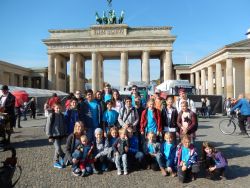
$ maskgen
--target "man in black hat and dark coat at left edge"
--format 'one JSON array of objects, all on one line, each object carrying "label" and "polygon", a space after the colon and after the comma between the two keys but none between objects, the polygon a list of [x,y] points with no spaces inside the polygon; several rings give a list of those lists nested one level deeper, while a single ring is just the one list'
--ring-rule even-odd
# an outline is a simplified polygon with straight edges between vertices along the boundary
[{"label": "man in black hat and dark coat at left edge", "polygon": [[[13,127],[15,126],[15,101],[16,98],[9,92],[9,88],[7,85],[3,85],[2,88],[2,96],[0,97],[0,112],[7,113],[10,121],[10,131],[13,131]],[[8,142],[10,141],[10,132],[8,133]]]}]

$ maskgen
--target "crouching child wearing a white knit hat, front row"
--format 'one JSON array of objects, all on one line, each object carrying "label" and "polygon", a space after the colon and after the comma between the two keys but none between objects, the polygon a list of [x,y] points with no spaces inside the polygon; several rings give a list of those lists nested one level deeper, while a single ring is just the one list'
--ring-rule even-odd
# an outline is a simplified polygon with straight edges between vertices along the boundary
[{"label": "crouching child wearing a white knit hat, front row", "polygon": [[97,168],[107,171],[108,141],[103,138],[101,128],[95,129],[94,154]]}]

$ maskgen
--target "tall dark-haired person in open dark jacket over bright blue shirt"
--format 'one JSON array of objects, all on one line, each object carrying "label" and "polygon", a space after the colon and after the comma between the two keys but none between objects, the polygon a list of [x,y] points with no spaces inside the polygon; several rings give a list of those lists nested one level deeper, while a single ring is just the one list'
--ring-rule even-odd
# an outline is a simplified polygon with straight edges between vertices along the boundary
[{"label": "tall dark-haired person in open dark jacket over bright blue shirt", "polygon": [[86,125],[89,141],[93,141],[95,129],[100,128],[101,115],[101,106],[94,99],[92,89],[88,89],[86,100],[80,103],[79,119]]}]

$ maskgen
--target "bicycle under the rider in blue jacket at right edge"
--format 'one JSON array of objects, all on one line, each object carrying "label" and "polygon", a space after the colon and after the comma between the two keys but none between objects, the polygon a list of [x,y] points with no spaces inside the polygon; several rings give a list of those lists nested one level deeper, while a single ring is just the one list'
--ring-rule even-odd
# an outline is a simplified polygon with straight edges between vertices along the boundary
[{"label": "bicycle under the rider in blue jacket at right edge", "polygon": [[[238,125],[238,124],[239,123],[238,123],[237,116],[231,115],[229,118],[223,119],[220,121],[219,128],[223,134],[231,135],[235,132],[236,125]],[[246,126],[246,129],[248,130],[249,125],[247,125],[247,122],[245,122],[245,126]]]}]

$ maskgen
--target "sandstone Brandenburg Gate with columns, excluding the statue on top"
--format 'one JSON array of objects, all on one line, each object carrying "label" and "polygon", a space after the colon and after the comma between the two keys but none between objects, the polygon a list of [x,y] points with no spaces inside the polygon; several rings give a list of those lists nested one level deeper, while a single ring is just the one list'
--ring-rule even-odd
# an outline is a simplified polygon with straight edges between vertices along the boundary
[{"label": "sandstone Brandenburg Gate with columns, excluding the statue on top", "polygon": [[[141,59],[142,81],[150,82],[150,58],[160,60],[161,81],[174,78],[172,27],[129,27],[126,24],[92,25],[87,29],[49,30],[49,89],[66,91],[70,63],[70,92],[84,90],[85,61],[92,61],[92,89],[102,89],[103,62],[120,59],[120,86],[128,84],[128,60]],[[139,74],[140,72],[138,72]],[[117,78],[114,78],[117,79]]]}]

